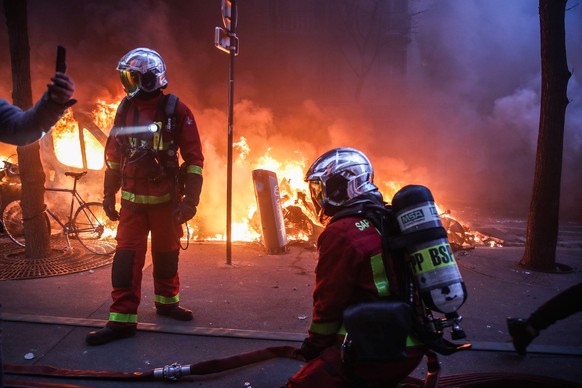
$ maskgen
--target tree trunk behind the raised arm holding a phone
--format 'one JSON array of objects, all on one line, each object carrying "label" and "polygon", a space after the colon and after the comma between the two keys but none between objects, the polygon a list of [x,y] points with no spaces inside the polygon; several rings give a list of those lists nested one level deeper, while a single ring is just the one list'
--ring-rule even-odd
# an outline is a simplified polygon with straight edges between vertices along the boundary
[{"label": "tree trunk behind the raised arm holding a phone", "polygon": [[[10,58],[12,63],[12,98],[22,109],[32,106],[32,86],[30,81],[30,46],[28,43],[26,0],[4,0]],[[44,218],[45,174],[40,160],[38,142],[16,148],[22,182],[22,217],[26,257],[38,259],[50,254],[50,239]]]}]

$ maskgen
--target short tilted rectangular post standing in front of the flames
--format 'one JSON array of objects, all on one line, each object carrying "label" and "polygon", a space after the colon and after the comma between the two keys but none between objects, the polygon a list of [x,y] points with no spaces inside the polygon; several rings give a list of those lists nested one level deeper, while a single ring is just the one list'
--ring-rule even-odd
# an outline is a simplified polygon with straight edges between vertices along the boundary
[{"label": "short tilted rectangular post standing in front of the flames", "polygon": [[279,183],[273,171],[254,170],[253,183],[265,249],[269,254],[281,254],[287,246],[287,232],[281,209]]}]

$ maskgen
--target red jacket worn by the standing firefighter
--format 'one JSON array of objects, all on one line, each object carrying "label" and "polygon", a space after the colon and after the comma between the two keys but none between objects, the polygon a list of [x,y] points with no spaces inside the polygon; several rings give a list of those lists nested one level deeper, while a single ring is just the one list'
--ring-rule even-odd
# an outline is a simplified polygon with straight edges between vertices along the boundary
[{"label": "red jacket worn by the standing firefighter", "polygon": [[[170,96],[170,95],[168,95]],[[194,115],[181,101],[169,117],[167,96],[161,91],[148,99],[134,97],[120,104],[116,123],[107,140],[104,194],[121,188],[121,205],[140,208],[176,201],[179,189],[178,154],[183,159],[186,182],[197,189],[186,190],[198,204],[204,157]],[[196,176],[199,179],[188,179]],[[113,177],[113,178],[112,178]]]}]

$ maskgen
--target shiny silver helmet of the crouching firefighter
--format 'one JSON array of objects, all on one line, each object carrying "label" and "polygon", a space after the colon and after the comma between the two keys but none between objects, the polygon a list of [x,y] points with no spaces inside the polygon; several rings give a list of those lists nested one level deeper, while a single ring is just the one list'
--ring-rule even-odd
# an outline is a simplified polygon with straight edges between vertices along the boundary
[{"label": "shiny silver helmet of the crouching firefighter", "polygon": [[307,170],[305,181],[322,224],[339,207],[378,190],[372,164],[353,148],[334,148],[321,155]]}]

